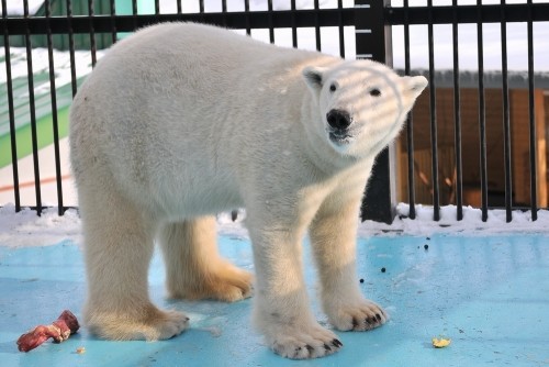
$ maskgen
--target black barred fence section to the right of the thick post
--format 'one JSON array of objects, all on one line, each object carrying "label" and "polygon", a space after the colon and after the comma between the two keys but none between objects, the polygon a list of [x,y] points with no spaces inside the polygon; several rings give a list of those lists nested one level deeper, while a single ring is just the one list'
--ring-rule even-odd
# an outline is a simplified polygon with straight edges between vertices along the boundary
[{"label": "black barred fence section to the right of the thick post", "polygon": [[[452,26],[452,62],[453,68],[451,70],[453,80],[453,125],[455,125],[455,167],[456,167],[456,208],[457,219],[463,218],[463,171],[462,171],[462,127],[463,121],[461,116],[461,85],[460,85],[460,65],[459,65],[459,44],[458,44],[458,25],[472,23],[477,27],[477,53],[478,53],[478,75],[477,75],[477,90],[478,90],[478,118],[479,118],[479,136],[480,136],[480,191],[481,191],[481,210],[482,221],[488,220],[489,215],[489,176],[486,163],[486,98],[485,98],[485,79],[486,73],[484,70],[484,46],[483,41],[483,25],[486,23],[501,24],[501,90],[502,90],[502,114],[503,114],[503,136],[504,153],[502,156],[503,168],[505,170],[505,201],[504,208],[506,211],[507,222],[512,221],[512,211],[514,209],[526,209],[524,207],[514,205],[513,203],[513,166],[512,166],[512,127],[509,124],[509,73],[507,67],[507,24],[509,22],[525,22],[527,24],[527,41],[528,43],[528,67],[527,67],[527,89],[528,89],[528,124],[525,129],[529,130],[529,182],[530,182],[530,204],[531,219],[537,219],[538,210],[538,166],[537,166],[537,134],[542,132],[536,131],[536,110],[535,110],[535,74],[534,74],[534,36],[533,23],[549,21],[549,3],[533,3],[528,0],[524,4],[506,4],[502,0],[500,4],[482,4],[481,0],[477,1],[475,5],[458,5],[457,0],[452,0],[451,5],[436,7],[434,1],[428,0],[426,7],[411,7],[407,0],[403,1],[403,5],[399,8],[385,9],[385,22],[391,25],[403,25],[404,27],[404,58],[405,58],[405,74],[411,73],[410,68],[410,26],[411,25],[425,25],[428,29],[428,52],[429,65],[427,76],[429,79],[429,125],[430,125],[430,156],[432,156],[432,202],[433,202],[433,218],[435,221],[440,219],[440,180],[439,180],[439,143],[437,127],[440,122],[437,121],[437,78],[434,64],[434,31],[435,24],[450,24]],[[547,88],[547,86],[546,86]],[[406,130],[407,142],[407,186],[408,186],[408,202],[410,202],[410,216],[415,218],[415,176],[414,167],[414,135],[413,135],[413,120],[408,121]]]}]

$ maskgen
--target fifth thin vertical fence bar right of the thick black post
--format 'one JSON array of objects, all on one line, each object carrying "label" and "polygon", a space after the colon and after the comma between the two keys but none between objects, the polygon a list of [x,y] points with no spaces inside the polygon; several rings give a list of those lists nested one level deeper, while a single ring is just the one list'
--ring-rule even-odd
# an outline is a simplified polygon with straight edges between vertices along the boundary
[{"label": "fifth thin vertical fence bar right of the thick black post", "polygon": [[504,168],[505,168],[505,220],[513,220],[513,180],[512,180],[512,160],[511,160],[511,119],[509,119],[509,87],[507,73],[507,22],[505,15],[505,0],[502,4],[502,98],[503,98],[503,143],[504,143]]}]

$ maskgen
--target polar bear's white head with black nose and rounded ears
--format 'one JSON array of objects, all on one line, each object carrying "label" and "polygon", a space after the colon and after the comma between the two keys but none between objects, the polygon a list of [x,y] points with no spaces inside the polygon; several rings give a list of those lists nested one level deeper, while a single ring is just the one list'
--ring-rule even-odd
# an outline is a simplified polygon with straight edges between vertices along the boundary
[{"label": "polar bear's white head with black nose and rounded ears", "polygon": [[396,137],[427,86],[422,76],[401,77],[370,60],[307,66],[302,74],[317,102],[316,133],[338,153],[356,158],[377,155]]}]

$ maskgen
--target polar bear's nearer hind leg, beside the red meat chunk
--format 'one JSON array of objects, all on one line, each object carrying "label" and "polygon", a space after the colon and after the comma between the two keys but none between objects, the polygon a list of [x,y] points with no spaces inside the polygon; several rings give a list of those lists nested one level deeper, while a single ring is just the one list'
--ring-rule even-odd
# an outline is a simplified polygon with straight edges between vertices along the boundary
[{"label": "polar bear's nearer hind leg, beside the red meat chunk", "polygon": [[122,196],[80,187],[88,299],[85,322],[110,340],[165,340],[189,325],[181,312],[161,311],[148,297],[153,223]]}]

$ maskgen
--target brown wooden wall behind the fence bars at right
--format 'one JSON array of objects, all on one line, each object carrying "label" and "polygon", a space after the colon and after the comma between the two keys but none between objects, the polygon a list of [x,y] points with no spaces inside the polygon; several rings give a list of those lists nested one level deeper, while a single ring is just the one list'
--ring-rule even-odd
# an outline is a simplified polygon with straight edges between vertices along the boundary
[{"label": "brown wooden wall behind the fence bars at right", "polygon": [[[453,89],[438,88],[436,118],[438,138],[438,175],[440,203],[455,203],[455,118]],[[479,92],[478,89],[461,89],[461,156],[464,203],[480,205],[480,129],[479,129]],[[489,184],[489,205],[504,204],[505,168],[504,168],[504,126],[503,94],[501,89],[485,89],[485,134],[486,165]],[[538,170],[538,205],[547,207],[547,146],[546,126],[549,116],[546,108],[549,98],[544,91],[535,91],[537,125],[537,170]],[[530,202],[530,166],[529,166],[529,129],[528,129],[528,91],[514,89],[509,91],[512,177],[514,205],[526,205]],[[430,119],[429,92],[425,91],[417,100],[412,114],[414,131],[415,196],[417,203],[433,203],[432,191],[432,154],[430,154]],[[408,201],[407,193],[407,154],[406,131],[403,131],[397,144],[399,154],[399,201]]]}]

